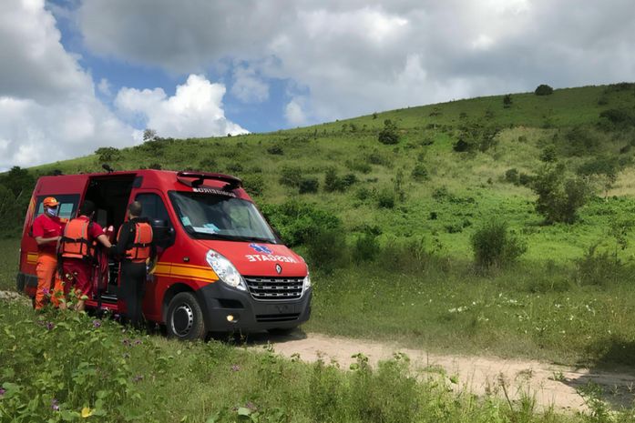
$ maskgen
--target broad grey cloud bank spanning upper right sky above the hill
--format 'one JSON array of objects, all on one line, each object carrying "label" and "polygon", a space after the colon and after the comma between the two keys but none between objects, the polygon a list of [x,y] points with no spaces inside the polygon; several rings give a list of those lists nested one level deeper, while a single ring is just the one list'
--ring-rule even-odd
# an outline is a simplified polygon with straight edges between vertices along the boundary
[{"label": "broad grey cloud bank spanning upper right sky above the hill", "polygon": [[260,79],[231,87],[242,101],[263,98],[262,79],[292,81],[306,93],[287,102],[308,96],[315,121],[635,79],[631,12],[630,0],[91,0],[79,22],[97,54],[177,73],[245,65]]}]

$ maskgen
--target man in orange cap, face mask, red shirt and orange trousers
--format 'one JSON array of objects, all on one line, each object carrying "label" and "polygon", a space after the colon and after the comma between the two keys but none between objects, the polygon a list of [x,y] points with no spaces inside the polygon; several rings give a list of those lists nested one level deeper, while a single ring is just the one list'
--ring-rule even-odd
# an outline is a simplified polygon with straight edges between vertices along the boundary
[{"label": "man in orange cap, face mask, red shirt and orange trousers", "polygon": [[[33,237],[37,243],[37,290],[34,307],[42,309],[46,304],[46,298],[54,287],[56,278],[57,241],[62,237],[66,220],[57,217],[59,203],[53,196],[47,196],[43,204],[44,213],[33,222]],[[53,301],[55,305],[55,300]]]}]

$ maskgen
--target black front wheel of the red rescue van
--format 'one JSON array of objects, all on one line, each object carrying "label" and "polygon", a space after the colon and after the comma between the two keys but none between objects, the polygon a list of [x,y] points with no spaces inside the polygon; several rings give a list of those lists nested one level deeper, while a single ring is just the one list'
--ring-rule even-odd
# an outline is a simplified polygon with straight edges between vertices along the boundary
[{"label": "black front wheel of the red rescue van", "polygon": [[207,335],[203,312],[191,292],[181,292],[172,298],[166,324],[169,337],[194,340]]}]

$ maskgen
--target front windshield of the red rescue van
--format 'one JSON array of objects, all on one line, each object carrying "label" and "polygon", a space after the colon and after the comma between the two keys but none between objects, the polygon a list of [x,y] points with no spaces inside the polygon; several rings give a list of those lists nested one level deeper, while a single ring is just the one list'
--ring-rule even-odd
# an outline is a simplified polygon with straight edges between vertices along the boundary
[{"label": "front windshield of the red rescue van", "polygon": [[250,201],[181,191],[171,191],[169,198],[192,237],[276,243],[276,236]]}]

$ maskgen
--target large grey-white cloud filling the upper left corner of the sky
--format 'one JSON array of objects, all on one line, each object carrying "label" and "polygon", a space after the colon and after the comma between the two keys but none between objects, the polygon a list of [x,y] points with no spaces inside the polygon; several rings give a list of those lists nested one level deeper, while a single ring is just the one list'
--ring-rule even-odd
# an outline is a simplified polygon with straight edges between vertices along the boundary
[{"label": "large grey-white cloud filling the upper left corner of the sky", "polygon": [[60,43],[43,0],[0,2],[0,170],[133,143]]}]

